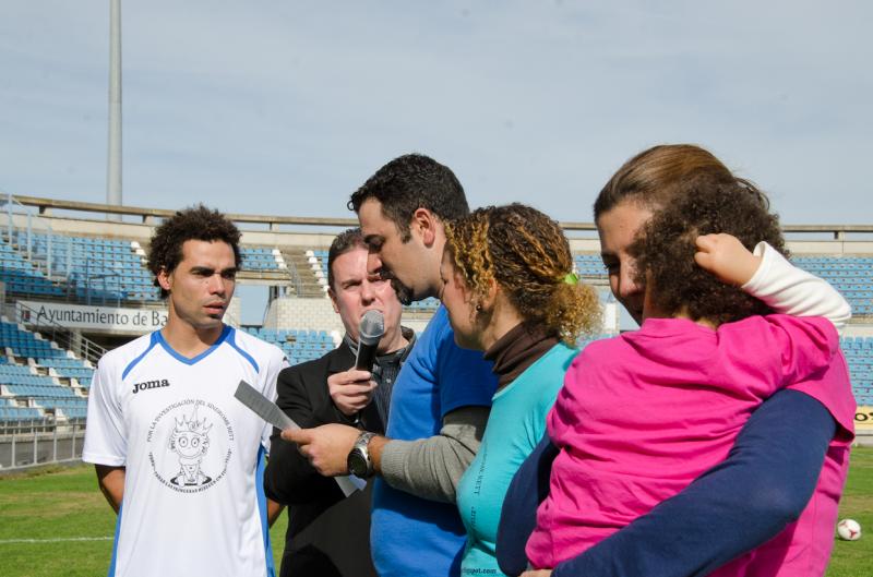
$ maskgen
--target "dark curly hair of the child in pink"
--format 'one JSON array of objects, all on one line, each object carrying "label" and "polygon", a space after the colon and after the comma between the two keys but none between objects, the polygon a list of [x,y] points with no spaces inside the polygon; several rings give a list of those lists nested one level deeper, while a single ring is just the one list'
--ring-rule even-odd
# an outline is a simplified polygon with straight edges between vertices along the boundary
[{"label": "dark curly hair of the child in pink", "polygon": [[698,236],[726,232],[752,251],[766,241],[788,256],[778,215],[767,197],[745,181],[726,182],[698,172],[682,180],[627,249],[636,259],[636,281],[650,290],[667,314],[682,311],[716,325],[773,312],[741,288],[726,285],[694,261]]}]

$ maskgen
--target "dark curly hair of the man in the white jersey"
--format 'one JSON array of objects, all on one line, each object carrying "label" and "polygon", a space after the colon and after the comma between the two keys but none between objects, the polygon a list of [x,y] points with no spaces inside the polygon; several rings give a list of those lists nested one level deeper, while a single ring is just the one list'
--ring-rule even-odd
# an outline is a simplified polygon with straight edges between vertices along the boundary
[{"label": "dark curly hair of the man in the white jersey", "polygon": [[[172,273],[182,262],[182,244],[187,240],[218,240],[230,244],[237,267],[242,264],[239,252],[241,235],[237,226],[218,211],[206,208],[202,204],[178,211],[155,229],[148,252],[148,269],[155,275],[154,284],[160,288],[157,275],[165,271]],[[169,296],[160,288],[160,298]]]}]

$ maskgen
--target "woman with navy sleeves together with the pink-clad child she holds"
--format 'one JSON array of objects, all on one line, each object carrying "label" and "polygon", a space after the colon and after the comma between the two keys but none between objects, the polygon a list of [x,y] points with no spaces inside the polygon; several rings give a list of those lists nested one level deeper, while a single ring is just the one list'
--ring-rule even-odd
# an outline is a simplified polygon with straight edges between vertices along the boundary
[{"label": "woman with navy sleeves together with the pink-clad child she holds", "polygon": [[[853,404],[845,362],[832,362],[839,354],[834,325],[846,322],[848,308],[826,284],[779,255],[781,236],[767,208],[751,183],[695,146],[646,151],[605,187],[595,214],[611,288],[645,322],[636,334],[589,347],[570,369],[548,420],[553,446],[547,444],[525,464],[506,497],[499,552],[507,573],[519,572],[519,541],[512,537],[526,536],[524,528],[529,528],[525,504],[541,500],[543,490],[550,493],[537,514],[527,554],[545,570],[531,575],[548,575],[551,568],[555,575],[704,575],[792,520],[779,509],[773,519],[746,520],[731,516],[726,503],[773,501],[770,490],[782,488],[766,481],[793,477],[810,490],[814,485],[814,503],[794,526],[719,575],[824,572],[851,438]],[[770,244],[760,244],[753,255],[750,250],[761,240]],[[756,316],[772,311],[825,314],[829,321]],[[622,362],[610,362],[617,359]],[[788,400],[779,407],[791,404],[796,414],[809,419],[810,447],[800,452],[798,470],[773,468],[758,458],[762,495],[736,493],[740,481],[750,486],[736,466],[737,473],[723,465],[689,485],[728,457],[734,441],[738,453],[755,457],[762,438],[738,433],[763,399],[789,384],[794,390],[784,394]],[[787,465],[785,455],[798,450],[788,447],[776,424],[768,456]],[[755,428],[755,434],[767,433]],[[733,479],[738,486],[723,482]],[[794,498],[805,501],[804,486],[794,488]],[[713,512],[683,509],[689,495],[696,493],[699,503],[706,492]],[[715,517],[707,516],[711,513]],[[683,515],[692,527],[684,534]],[[658,517],[659,527],[667,528],[663,539],[647,529]],[[721,517],[736,525],[719,525]],[[706,524],[723,531],[707,530]],[[702,536],[693,531],[697,527]],[[648,552],[636,554],[634,548]],[[605,550],[611,554],[605,556]]]}]

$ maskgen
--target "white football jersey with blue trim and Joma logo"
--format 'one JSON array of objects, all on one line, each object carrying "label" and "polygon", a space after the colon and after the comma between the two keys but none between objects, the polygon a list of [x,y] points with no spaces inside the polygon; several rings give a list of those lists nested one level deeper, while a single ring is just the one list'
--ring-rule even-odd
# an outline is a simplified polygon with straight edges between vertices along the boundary
[{"label": "white football jersey with blue trim and Joma logo", "polygon": [[287,365],[278,347],[229,326],[193,359],[159,330],[100,359],[82,458],[125,467],[110,577],[274,575],[271,426],[234,393],[244,380],[275,398]]}]

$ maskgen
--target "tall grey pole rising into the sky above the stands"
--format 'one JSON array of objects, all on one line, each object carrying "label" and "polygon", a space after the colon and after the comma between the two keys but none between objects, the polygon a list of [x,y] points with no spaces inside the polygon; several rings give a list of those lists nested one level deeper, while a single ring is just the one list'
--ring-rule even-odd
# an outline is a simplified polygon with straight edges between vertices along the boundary
[{"label": "tall grey pole rising into the sky above the stands", "polygon": [[[121,205],[121,0],[109,0],[109,158],[106,204]],[[121,220],[121,215],[108,215]]]}]

